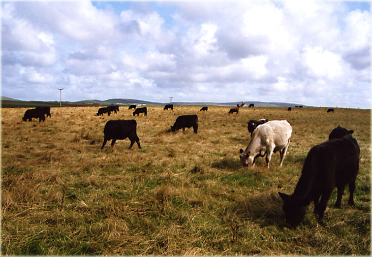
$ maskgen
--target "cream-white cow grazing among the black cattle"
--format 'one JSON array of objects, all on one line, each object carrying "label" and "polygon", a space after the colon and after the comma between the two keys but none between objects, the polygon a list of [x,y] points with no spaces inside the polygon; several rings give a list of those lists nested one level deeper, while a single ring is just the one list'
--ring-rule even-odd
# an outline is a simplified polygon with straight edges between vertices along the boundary
[{"label": "cream-white cow grazing among the black cattle", "polygon": [[266,154],[266,166],[273,153],[280,153],[280,167],[283,164],[291,140],[292,127],[287,121],[269,121],[258,126],[245,151],[240,149],[240,161],[243,166],[254,166],[257,157]]}]

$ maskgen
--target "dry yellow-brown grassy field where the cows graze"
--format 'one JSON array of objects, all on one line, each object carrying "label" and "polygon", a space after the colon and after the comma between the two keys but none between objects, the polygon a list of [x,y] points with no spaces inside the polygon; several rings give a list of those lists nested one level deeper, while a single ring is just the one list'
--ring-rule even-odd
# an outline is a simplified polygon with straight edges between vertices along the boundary
[{"label": "dry yellow-brown grassy field where the cows graze", "polygon": [[[43,123],[23,122],[26,108],[1,108],[2,255],[370,255],[371,111],[325,108],[148,106],[135,117],[142,149],[129,140],[100,150],[108,120],[133,119],[120,107],[52,108]],[[170,132],[179,115],[192,128]],[[250,119],[286,119],[293,128],[283,167],[260,158],[243,167]],[[278,192],[291,194],[310,148],[333,128],[353,129],[361,148],[355,206],[334,208],[324,224],[313,203],[296,229],[287,227]]]}]

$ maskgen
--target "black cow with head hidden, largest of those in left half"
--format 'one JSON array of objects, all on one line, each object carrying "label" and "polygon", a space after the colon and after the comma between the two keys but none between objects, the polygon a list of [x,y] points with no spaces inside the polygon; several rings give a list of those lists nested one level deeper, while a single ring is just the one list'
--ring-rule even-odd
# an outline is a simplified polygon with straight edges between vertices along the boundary
[{"label": "black cow with head hidden, largest of those in left half", "polygon": [[114,146],[117,139],[129,138],[130,146],[132,148],[134,142],[137,143],[138,148],[141,149],[139,138],[137,136],[137,122],[135,120],[116,120],[108,121],[103,129],[105,135],[101,149],[105,146],[107,140],[111,140],[111,147]]}]

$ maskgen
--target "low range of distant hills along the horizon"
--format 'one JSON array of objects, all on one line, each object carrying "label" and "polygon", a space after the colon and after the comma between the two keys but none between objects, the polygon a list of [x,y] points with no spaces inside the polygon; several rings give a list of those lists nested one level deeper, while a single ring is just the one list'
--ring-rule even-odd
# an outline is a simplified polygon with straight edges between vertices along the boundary
[{"label": "low range of distant hills along the horizon", "polygon": [[[246,104],[244,107],[248,107],[249,104],[253,103],[255,107],[295,107],[295,103],[285,103],[285,102],[261,102],[261,101],[243,101]],[[169,102],[167,102],[169,103]],[[164,105],[164,102],[152,102],[138,99],[127,99],[127,98],[114,98],[107,100],[97,100],[97,99],[87,99],[75,102],[62,101],[62,106],[106,106],[111,104],[118,105]],[[237,102],[173,102],[174,105],[204,105],[204,106],[236,106],[241,104],[241,101]],[[34,106],[50,106],[58,107],[60,106],[59,101],[22,101],[18,99],[13,99],[6,96],[1,96],[1,106],[2,107],[34,107]],[[305,106],[305,105],[304,105]]]}]

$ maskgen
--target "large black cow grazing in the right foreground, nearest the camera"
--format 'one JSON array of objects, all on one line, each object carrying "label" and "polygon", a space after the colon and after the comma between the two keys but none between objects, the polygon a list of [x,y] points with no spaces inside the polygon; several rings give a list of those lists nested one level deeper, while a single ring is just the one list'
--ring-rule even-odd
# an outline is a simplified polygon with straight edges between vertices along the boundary
[{"label": "large black cow grazing in the right foreground, nearest the camera", "polygon": [[279,192],[284,201],[286,221],[293,227],[299,225],[311,200],[314,202],[314,213],[321,221],[335,187],[335,206],[341,207],[341,197],[346,184],[349,184],[348,204],[354,205],[353,193],[359,170],[359,153],[358,142],[350,133],[312,147],[305,159],[294,193],[287,195]]}]

